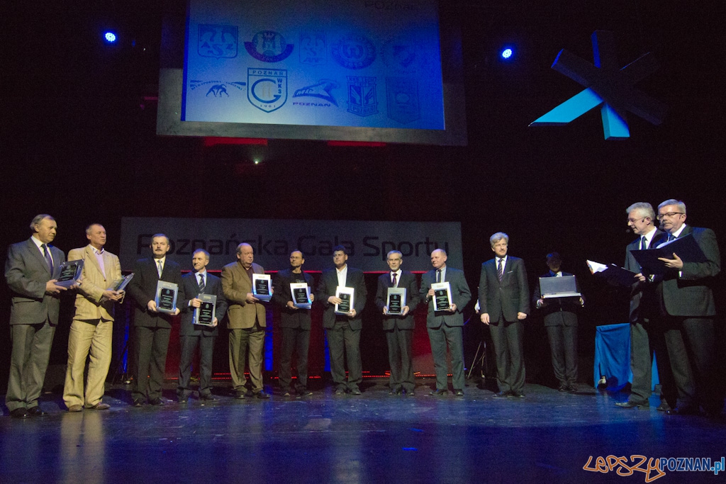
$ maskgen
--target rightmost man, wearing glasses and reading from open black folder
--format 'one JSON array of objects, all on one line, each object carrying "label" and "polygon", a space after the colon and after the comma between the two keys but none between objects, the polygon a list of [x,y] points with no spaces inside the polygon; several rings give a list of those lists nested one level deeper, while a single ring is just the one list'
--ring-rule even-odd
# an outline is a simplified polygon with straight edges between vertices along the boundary
[{"label": "rightmost man, wearing glasses and reading from open black folder", "polygon": [[720,414],[723,399],[714,380],[714,278],[721,271],[716,234],[685,224],[685,203],[666,200],[658,205],[658,220],[668,234],[664,242],[691,235],[701,247],[705,262],[688,262],[673,253],[660,258],[666,274],[656,287],[666,327],[666,346],[678,390],[677,406],[669,414],[697,414],[699,403],[708,414]]}]

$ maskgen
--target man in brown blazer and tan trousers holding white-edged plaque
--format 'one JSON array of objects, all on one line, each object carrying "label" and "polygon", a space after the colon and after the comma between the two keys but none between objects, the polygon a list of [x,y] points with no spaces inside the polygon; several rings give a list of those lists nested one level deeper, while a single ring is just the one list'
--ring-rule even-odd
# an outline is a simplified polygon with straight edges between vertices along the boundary
[{"label": "man in brown blazer and tan trousers holding white-edged plaque", "polygon": [[[270,398],[262,384],[262,353],[265,342],[265,306],[252,293],[252,274],[264,274],[253,263],[251,245],[237,245],[237,261],[222,268],[222,292],[227,298],[229,316],[229,373],[234,398]],[[245,391],[245,364],[249,354],[251,390]]]}]

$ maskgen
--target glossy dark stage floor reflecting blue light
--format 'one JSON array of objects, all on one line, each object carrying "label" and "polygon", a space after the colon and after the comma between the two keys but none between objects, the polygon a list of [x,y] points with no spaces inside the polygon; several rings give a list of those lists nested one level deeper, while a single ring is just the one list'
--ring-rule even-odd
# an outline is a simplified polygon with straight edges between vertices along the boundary
[{"label": "glossy dark stage floor reflecting blue light", "polygon": [[[584,467],[591,456],[597,469],[598,457],[635,466],[631,456],[726,455],[725,419],[668,416],[657,398],[619,409],[627,395],[584,385],[576,394],[527,385],[525,399],[497,399],[473,385],[464,398],[429,396],[429,379],[413,397],[389,396],[385,380],[366,380],[360,396],[315,384],[311,397],[261,401],[235,400],[216,382],[219,403],[180,405],[170,382],[165,406],[141,409],[117,385],[104,398],[110,410],[73,414],[46,394],[47,417],[0,417],[0,483],[643,483],[638,470]],[[725,480],[668,469],[657,479]]]}]

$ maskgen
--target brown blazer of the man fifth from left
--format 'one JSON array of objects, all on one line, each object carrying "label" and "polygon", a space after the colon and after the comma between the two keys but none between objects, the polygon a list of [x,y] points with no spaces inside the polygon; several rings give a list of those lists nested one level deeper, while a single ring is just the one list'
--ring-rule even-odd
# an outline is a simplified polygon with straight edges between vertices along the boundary
[{"label": "brown blazer of the man fifth from left", "polygon": [[[253,274],[264,274],[262,266],[252,263]],[[267,316],[264,303],[247,303],[247,295],[252,292],[252,279],[242,267],[240,261],[227,264],[222,268],[222,290],[227,298],[227,312],[229,313],[229,329],[250,329],[255,321],[261,326],[267,326]]]}]

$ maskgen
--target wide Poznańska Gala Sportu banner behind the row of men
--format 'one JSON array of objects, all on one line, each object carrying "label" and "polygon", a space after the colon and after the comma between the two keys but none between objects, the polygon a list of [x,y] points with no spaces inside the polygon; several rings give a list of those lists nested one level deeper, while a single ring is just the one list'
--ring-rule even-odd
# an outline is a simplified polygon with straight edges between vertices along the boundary
[{"label": "wide Pozna\u0144ska Gala Sportu banner behind the row of men", "polygon": [[150,257],[153,234],[166,234],[171,242],[167,257],[192,268],[192,253],[205,249],[211,255],[208,269],[220,270],[236,260],[236,247],[248,242],[255,250],[255,262],[267,271],[290,265],[293,250],[305,255],[306,271],[333,266],[333,247],[348,249],[348,263],[363,271],[386,271],[386,254],[400,250],[404,270],[431,270],[431,251],[449,254],[447,264],[462,268],[461,223],[263,220],[244,218],[155,218],[124,217],[121,220],[121,267],[134,268],[134,261]]}]

